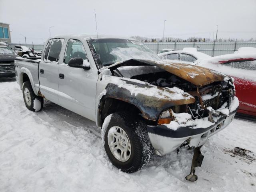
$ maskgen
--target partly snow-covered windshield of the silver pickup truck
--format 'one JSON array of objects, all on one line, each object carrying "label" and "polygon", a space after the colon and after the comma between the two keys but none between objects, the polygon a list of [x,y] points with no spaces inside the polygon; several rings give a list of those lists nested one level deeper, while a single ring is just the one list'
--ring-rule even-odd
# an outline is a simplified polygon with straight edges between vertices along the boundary
[{"label": "partly snow-covered windshield of the silver pickup truck", "polygon": [[150,48],[135,40],[92,39],[88,40],[88,44],[100,67],[129,59],[160,60]]}]

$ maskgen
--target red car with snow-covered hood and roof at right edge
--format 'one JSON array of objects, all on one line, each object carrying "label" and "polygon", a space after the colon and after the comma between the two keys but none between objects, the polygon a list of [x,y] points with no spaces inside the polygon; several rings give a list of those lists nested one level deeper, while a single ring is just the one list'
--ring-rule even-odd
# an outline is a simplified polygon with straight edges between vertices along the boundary
[{"label": "red car with snow-covered hood and roof at right edge", "polygon": [[236,52],[196,63],[234,78],[238,113],[256,117],[256,52]]}]

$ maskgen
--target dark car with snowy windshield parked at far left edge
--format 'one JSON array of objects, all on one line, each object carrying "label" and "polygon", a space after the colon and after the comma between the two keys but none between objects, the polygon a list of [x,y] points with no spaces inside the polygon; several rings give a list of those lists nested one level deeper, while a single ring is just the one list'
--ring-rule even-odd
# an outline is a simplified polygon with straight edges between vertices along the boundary
[{"label": "dark car with snowy windshield parked at far left edge", "polygon": [[16,52],[4,42],[0,42],[0,78],[15,77],[14,59]]}]

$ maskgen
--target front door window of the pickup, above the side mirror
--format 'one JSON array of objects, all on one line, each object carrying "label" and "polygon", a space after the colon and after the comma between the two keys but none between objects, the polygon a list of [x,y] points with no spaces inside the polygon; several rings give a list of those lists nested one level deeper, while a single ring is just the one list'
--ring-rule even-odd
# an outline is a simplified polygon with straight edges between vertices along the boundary
[{"label": "front door window of the pickup, above the side mirror", "polygon": [[75,39],[68,40],[68,45],[66,47],[65,56],[64,56],[64,63],[68,64],[70,59],[80,57],[83,60],[87,59],[86,52],[84,50],[84,46],[82,42]]}]

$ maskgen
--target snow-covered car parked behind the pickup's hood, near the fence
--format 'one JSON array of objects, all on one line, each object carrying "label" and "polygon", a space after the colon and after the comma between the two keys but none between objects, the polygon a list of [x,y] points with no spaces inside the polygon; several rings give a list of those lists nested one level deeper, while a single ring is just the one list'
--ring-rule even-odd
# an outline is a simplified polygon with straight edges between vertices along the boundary
[{"label": "snow-covered car parked behind the pickup's hood, near the fence", "polygon": [[183,50],[169,51],[158,54],[162,60],[193,64],[196,61],[211,58],[211,56],[197,51],[196,48],[183,48]]}]

